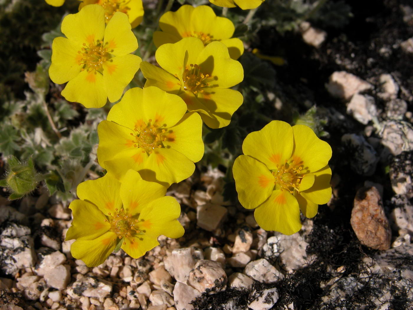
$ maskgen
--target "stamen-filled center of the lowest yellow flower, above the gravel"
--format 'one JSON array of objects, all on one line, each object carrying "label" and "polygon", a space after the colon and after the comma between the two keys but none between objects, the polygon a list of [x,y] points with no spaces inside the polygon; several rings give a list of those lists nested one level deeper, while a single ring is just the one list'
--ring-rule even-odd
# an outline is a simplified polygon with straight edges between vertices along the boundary
[{"label": "stamen-filled center of the lowest yellow flower, above the gravel", "polygon": [[109,212],[109,230],[114,232],[119,239],[145,233],[138,229],[138,222],[140,222],[138,219],[134,219],[131,214],[126,214],[123,208],[120,211],[117,208],[115,210],[114,215]]}]

